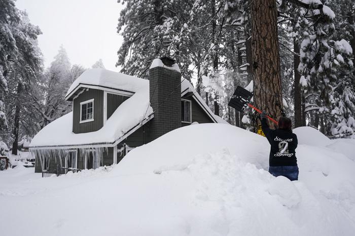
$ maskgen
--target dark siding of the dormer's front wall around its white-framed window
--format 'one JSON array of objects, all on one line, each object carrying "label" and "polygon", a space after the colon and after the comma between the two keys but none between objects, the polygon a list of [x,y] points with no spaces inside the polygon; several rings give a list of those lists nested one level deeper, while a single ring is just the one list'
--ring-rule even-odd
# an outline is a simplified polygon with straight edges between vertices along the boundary
[{"label": "dark siding of the dormer's front wall around its white-framed window", "polygon": [[[80,103],[94,99],[94,120],[80,123]],[[74,100],[73,132],[87,133],[97,131],[103,126],[103,90],[89,88]]]}]

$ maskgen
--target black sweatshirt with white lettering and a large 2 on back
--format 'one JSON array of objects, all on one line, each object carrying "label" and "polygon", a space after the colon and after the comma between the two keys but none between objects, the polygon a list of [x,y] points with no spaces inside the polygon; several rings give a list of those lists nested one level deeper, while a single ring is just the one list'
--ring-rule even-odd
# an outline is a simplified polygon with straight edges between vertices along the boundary
[{"label": "black sweatshirt with white lettering and a large 2 on back", "polygon": [[297,166],[297,135],[291,130],[270,129],[266,118],[261,119],[261,127],[271,145],[270,166]]}]

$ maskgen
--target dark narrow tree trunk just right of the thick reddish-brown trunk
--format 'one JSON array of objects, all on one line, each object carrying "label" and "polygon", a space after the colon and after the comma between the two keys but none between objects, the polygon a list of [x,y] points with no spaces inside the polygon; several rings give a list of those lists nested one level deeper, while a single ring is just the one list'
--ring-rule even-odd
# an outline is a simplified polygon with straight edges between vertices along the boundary
[{"label": "dark narrow tree trunk just right of the thick reddish-brown trunk", "polygon": [[298,40],[294,38],[293,40],[293,50],[295,52],[293,56],[293,66],[294,66],[294,103],[295,103],[295,127],[302,126],[302,104],[301,104],[301,85],[300,85],[300,72],[298,71],[298,65],[300,64],[300,47],[298,45]]}]

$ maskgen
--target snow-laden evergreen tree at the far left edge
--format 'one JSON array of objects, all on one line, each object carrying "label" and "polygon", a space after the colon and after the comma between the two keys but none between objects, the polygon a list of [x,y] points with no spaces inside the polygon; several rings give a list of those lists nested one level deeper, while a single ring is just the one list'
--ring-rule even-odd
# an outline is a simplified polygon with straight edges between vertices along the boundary
[{"label": "snow-laden evergreen tree at the far left edge", "polygon": [[[28,108],[26,105],[31,91],[30,87],[36,83],[37,76],[42,71],[42,53],[37,43],[41,30],[29,22],[26,12],[15,8],[13,1],[3,1],[2,4],[0,67],[3,82],[0,93],[7,105],[8,121],[7,124],[4,123],[5,106],[3,101],[0,101],[0,117],[2,117],[0,129],[3,130],[7,143],[13,144],[13,154],[16,155],[21,113]],[[7,92],[5,97],[4,91]],[[30,122],[29,118],[32,116],[33,114],[28,112],[26,121]]]}]

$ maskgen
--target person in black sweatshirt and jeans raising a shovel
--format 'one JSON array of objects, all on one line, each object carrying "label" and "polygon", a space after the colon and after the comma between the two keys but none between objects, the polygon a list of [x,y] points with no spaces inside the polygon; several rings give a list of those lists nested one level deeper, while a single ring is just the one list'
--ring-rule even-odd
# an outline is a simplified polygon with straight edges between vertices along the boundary
[{"label": "person in black sweatshirt and jeans raising a shovel", "polygon": [[292,121],[288,117],[280,117],[278,128],[270,129],[266,120],[266,113],[260,115],[261,127],[271,145],[269,156],[269,172],[273,176],[285,176],[298,180],[298,166],[296,148],[297,135],[292,132]]}]

